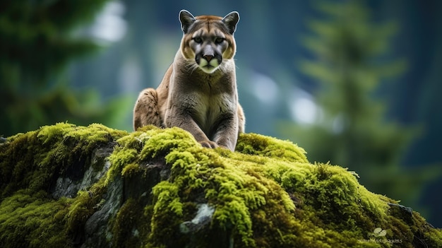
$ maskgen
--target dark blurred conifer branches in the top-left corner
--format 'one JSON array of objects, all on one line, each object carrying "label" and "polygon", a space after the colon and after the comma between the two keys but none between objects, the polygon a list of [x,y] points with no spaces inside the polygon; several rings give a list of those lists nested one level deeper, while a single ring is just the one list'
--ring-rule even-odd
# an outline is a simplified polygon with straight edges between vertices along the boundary
[{"label": "dark blurred conifer branches in the top-left corner", "polygon": [[97,49],[90,40],[71,33],[92,20],[106,1],[3,1],[0,68],[11,76],[8,79],[16,80],[2,82],[8,88],[16,88],[16,83],[43,86],[45,79],[72,57]]}]

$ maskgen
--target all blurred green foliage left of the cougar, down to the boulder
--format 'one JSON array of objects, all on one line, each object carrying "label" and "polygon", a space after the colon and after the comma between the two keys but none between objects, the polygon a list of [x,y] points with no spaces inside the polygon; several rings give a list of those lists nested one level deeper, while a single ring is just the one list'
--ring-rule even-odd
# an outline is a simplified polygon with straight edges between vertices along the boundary
[{"label": "all blurred green foliage left of the cougar, down to the boulder", "polygon": [[2,1],[2,135],[66,121],[118,124],[122,115],[119,107],[129,107],[129,98],[104,107],[97,93],[71,90],[64,79],[69,62],[99,49],[92,40],[75,35],[75,31],[92,20],[106,1]]}]

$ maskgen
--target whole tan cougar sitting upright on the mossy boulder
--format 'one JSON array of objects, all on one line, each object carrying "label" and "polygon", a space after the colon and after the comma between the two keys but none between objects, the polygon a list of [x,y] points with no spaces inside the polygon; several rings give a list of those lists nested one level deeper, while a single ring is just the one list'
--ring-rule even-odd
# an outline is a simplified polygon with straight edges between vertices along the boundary
[{"label": "whole tan cougar sitting upright on the mossy boulder", "polygon": [[158,88],[138,96],[133,128],[178,126],[202,146],[234,150],[245,125],[233,59],[239,14],[194,17],[181,11],[179,20],[181,46]]}]

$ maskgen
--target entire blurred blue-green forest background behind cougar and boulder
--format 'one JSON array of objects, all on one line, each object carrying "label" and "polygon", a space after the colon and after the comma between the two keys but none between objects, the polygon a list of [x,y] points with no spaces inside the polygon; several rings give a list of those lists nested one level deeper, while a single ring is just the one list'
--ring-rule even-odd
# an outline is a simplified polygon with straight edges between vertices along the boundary
[{"label": "entire blurred blue-green forest background behind cougar and boulder", "polygon": [[0,135],[56,122],[132,130],[179,47],[178,13],[239,11],[246,131],[348,167],[442,228],[442,1],[0,2]]}]

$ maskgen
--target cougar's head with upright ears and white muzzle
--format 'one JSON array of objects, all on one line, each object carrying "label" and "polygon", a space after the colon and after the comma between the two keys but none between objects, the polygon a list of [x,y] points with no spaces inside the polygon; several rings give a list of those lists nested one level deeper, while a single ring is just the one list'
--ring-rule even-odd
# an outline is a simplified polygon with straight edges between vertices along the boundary
[{"label": "cougar's head with upright ears and white muzzle", "polygon": [[[184,35],[181,53],[205,73],[213,73],[223,59],[232,59],[236,52],[233,33],[237,29],[239,14],[233,11],[220,16],[192,16],[189,11],[179,12]],[[193,62],[194,61],[194,62]]]}]

